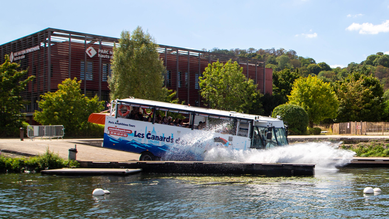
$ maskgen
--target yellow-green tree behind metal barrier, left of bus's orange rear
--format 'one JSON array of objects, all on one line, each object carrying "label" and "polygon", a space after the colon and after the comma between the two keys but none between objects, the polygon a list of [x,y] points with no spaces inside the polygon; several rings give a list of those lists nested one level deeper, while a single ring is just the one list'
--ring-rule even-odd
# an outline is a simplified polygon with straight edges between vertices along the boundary
[{"label": "yellow-green tree behind metal barrier, left of bus's orange rear", "polygon": [[88,117],[103,109],[103,101],[98,97],[92,99],[81,94],[81,81],[77,78],[65,79],[58,84],[56,92],[41,95],[39,108],[35,110],[34,119],[43,125],[63,125],[67,136],[88,136],[88,132],[97,126],[88,122]]}]

